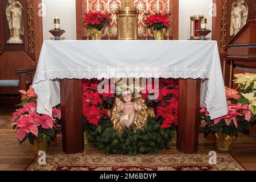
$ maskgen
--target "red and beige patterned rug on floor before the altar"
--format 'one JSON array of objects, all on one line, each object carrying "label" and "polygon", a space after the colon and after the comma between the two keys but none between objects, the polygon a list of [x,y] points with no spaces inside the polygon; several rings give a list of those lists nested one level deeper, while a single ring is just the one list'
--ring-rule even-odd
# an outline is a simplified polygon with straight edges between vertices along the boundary
[{"label": "red and beige patterned rug on floor before the altar", "polygon": [[158,155],[95,155],[48,154],[46,165],[40,166],[38,158],[28,171],[243,171],[229,154],[217,154],[217,165],[210,165],[206,154]]}]

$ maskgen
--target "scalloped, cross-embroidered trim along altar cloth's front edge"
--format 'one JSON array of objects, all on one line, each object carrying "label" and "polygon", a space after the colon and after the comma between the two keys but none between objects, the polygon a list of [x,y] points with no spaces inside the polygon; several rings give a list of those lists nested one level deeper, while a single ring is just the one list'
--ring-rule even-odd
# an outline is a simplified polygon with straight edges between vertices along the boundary
[{"label": "scalloped, cross-embroidered trim along altar cloth's front edge", "polygon": [[41,72],[36,72],[34,82],[40,82],[43,80],[53,80],[55,78],[208,78],[210,69],[203,68],[49,68]]}]

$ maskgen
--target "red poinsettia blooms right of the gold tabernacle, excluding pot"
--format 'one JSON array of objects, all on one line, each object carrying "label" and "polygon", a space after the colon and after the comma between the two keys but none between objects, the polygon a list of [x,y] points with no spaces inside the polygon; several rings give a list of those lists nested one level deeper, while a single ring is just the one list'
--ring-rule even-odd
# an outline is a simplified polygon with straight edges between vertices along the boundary
[{"label": "red poinsettia blooms right of the gold tabernacle, excluding pot", "polygon": [[170,20],[168,20],[167,14],[152,14],[144,20],[144,23],[148,28],[154,28],[154,30],[161,30],[162,28],[168,29]]}]

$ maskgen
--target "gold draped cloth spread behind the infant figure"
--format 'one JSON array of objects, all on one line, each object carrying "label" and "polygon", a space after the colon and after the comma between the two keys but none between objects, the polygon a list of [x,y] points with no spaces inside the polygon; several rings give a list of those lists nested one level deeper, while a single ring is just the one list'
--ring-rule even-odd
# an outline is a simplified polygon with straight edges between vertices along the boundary
[{"label": "gold draped cloth spread behind the infant figure", "polygon": [[[121,98],[118,97],[115,98],[115,103],[117,100],[123,103]],[[145,104],[145,100],[143,100],[142,98],[137,98],[134,102],[142,106],[142,112],[137,113],[137,119],[131,127],[133,127],[134,129],[141,129],[148,122],[147,105]],[[120,119],[123,114],[117,112],[117,106],[115,105],[115,103],[110,113],[110,121],[113,123],[114,129],[120,131],[122,129]]]}]

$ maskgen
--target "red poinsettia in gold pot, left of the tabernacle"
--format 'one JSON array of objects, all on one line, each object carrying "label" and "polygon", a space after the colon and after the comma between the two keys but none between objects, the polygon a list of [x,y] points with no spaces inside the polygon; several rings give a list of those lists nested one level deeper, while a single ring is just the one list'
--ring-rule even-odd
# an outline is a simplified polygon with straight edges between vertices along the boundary
[{"label": "red poinsettia in gold pot, left of the tabernacle", "polygon": [[104,32],[106,26],[109,26],[109,23],[109,14],[90,11],[85,15],[84,26],[92,35],[92,40],[101,40],[102,32]]}]

